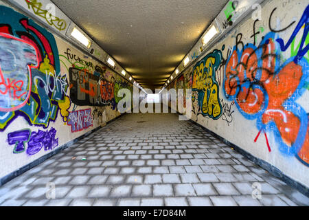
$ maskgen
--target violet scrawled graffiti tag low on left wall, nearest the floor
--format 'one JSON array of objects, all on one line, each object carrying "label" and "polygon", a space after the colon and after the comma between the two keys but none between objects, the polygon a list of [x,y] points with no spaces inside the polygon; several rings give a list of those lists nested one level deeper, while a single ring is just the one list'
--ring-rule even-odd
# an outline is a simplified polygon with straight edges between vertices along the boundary
[{"label": "violet scrawled graffiti tag low on left wall, nearest the floor", "polygon": [[8,143],[15,144],[13,153],[23,153],[27,143],[27,155],[35,155],[44,147],[45,151],[51,151],[58,146],[56,129],[49,131],[31,132],[29,129],[14,131],[8,134]]}]

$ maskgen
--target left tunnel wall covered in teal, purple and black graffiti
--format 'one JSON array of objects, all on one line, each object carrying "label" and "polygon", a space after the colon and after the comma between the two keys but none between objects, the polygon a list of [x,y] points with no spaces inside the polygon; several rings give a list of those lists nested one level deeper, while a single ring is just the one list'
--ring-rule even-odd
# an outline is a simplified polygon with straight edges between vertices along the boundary
[{"label": "left tunnel wall covered in teal, purple and black graffiti", "polygon": [[0,4],[1,178],[116,118],[133,85]]}]

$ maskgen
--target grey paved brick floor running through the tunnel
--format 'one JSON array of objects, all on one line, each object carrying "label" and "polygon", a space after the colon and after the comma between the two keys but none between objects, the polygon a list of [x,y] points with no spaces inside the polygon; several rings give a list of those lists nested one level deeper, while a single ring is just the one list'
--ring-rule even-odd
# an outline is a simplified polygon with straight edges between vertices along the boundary
[{"label": "grey paved brick floor running through the tunnel", "polygon": [[[56,199],[47,199],[48,183]],[[253,183],[262,199],[253,199]],[[126,114],[0,188],[0,206],[308,205],[308,197],[171,113]]]}]

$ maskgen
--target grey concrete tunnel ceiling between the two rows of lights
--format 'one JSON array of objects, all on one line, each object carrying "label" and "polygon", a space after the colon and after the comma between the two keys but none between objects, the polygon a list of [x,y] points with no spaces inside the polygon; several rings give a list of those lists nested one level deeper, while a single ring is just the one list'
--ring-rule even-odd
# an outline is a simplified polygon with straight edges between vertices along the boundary
[{"label": "grey concrete tunnel ceiling between the two rows of lights", "polygon": [[144,88],[161,89],[228,0],[52,0]]}]

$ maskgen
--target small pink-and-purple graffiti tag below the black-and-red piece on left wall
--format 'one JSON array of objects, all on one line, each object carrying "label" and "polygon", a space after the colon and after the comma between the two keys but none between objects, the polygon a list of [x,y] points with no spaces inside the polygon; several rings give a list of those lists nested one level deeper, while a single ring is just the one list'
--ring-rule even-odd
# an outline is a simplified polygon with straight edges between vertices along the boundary
[{"label": "small pink-and-purple graffiti tag below the black-and-red piece on left wall", "polygon": [[72,132],[88,129],[92,126],[91,109],[70,112],[67,124],[71,125]]}]

